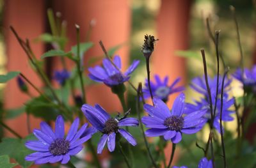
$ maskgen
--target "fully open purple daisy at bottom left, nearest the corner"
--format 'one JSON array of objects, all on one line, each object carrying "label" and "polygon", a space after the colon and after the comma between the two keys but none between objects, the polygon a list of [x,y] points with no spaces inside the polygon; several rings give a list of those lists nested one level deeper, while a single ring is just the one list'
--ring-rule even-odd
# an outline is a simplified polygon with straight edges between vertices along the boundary
[{"label": "fully open purple daisy at bottom left, nearest the corner", "polygon": [[47,123],[40,123],[41,130],[35,129],[33,134],[38,141],[27,141],[25,146],[36,151],[25,157],[25,160],[35,162],[35,164],[46,164],[61,162],[67,164],[70,156],[76,155],[83,149],[82,144],[92,137],[91,134],[80,138],[86,130],[87,123],[79,126],[79,118],[72,123],[67,137],[64,137],[64,120],[62,116],[58,116],[55,123],[55,132]]}]

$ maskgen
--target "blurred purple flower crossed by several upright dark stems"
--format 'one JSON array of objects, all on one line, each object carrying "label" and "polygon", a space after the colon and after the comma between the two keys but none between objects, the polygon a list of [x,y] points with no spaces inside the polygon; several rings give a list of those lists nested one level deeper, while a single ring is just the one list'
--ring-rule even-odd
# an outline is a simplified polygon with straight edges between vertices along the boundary
[{"label": "blurred purple flower crossed by several upright dark stems", "polygon": [[[222,81],[222,78],[220,77],[220,82]],[[214,79],[209,80],[209,86],[211,87],[211,100],[212,100],[212,111],[216,109],[215,111],[215,117],[213,121],[213,126],[220,132],[220,111],[221,111],[221,84],[219,86],[220,91],[218,91],[217,96],[217,102],[216,102],[216,77]],[[215,82],[215,83],[214,83]],[[232,118],[232,114],[234,111],[230,110],[230,107],[234,105],[234,98],[228,99],[228,86],[230,84],[230,80],[227,80],[227,82],[224,82],[224,93],[223,93],[223,109],[222,109],[222,121],[233,121],[234,118]],[[197,86],[197,87],[196,87]],[[200,101],[194,100],[193,103],[186,103],[185,113],[190,114],[194,111],[200,111],[205,110],[204,118],[206,121],[211,120],[211,108],[210,108],[210,99],[209,95],[207,93],[207,88],[205,84],[205,80],[200,78],[193,79],[193,84],[191,84],[191,88],[195,89],[195,91],[198,91],[198,93],[201,93],[203,95],[202,98],[200,98]],[[216,107],[215,107],[216,104]]]}]

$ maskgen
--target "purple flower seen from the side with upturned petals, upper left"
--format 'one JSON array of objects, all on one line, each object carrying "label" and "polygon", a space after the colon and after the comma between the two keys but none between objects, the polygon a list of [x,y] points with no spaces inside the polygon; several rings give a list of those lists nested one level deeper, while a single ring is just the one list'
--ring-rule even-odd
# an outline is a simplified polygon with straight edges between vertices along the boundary
[{"label": "purple flower seen from the side with upturned petals, upper left", "polygon": [[119,70],[107,58],[104,58],[102,61],[103,67],[97,65],[94,68],[88,68],[90,79],[96,82],[104,82],[109,87],[122,84],[130,79],[129,75],[136,69],[140,61],[133,61],[132,65],[124,73],[120,72],[121,59],[119,56],[114,57],[113,63],[115,63]]}]

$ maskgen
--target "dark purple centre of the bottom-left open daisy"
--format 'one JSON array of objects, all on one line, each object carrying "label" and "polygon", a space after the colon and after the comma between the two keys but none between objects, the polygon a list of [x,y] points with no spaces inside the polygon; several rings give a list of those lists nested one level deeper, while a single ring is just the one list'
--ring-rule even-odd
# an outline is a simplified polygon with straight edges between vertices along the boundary
[{"label": "dark purple centre of the bottom-left open daisy", "polygon": [[52,153],[52,155],[65,155],[68,153],[69,149],[69,141],[66,141],[63,138],[56,139],[53,141],[49,147],[49,151]]}]

